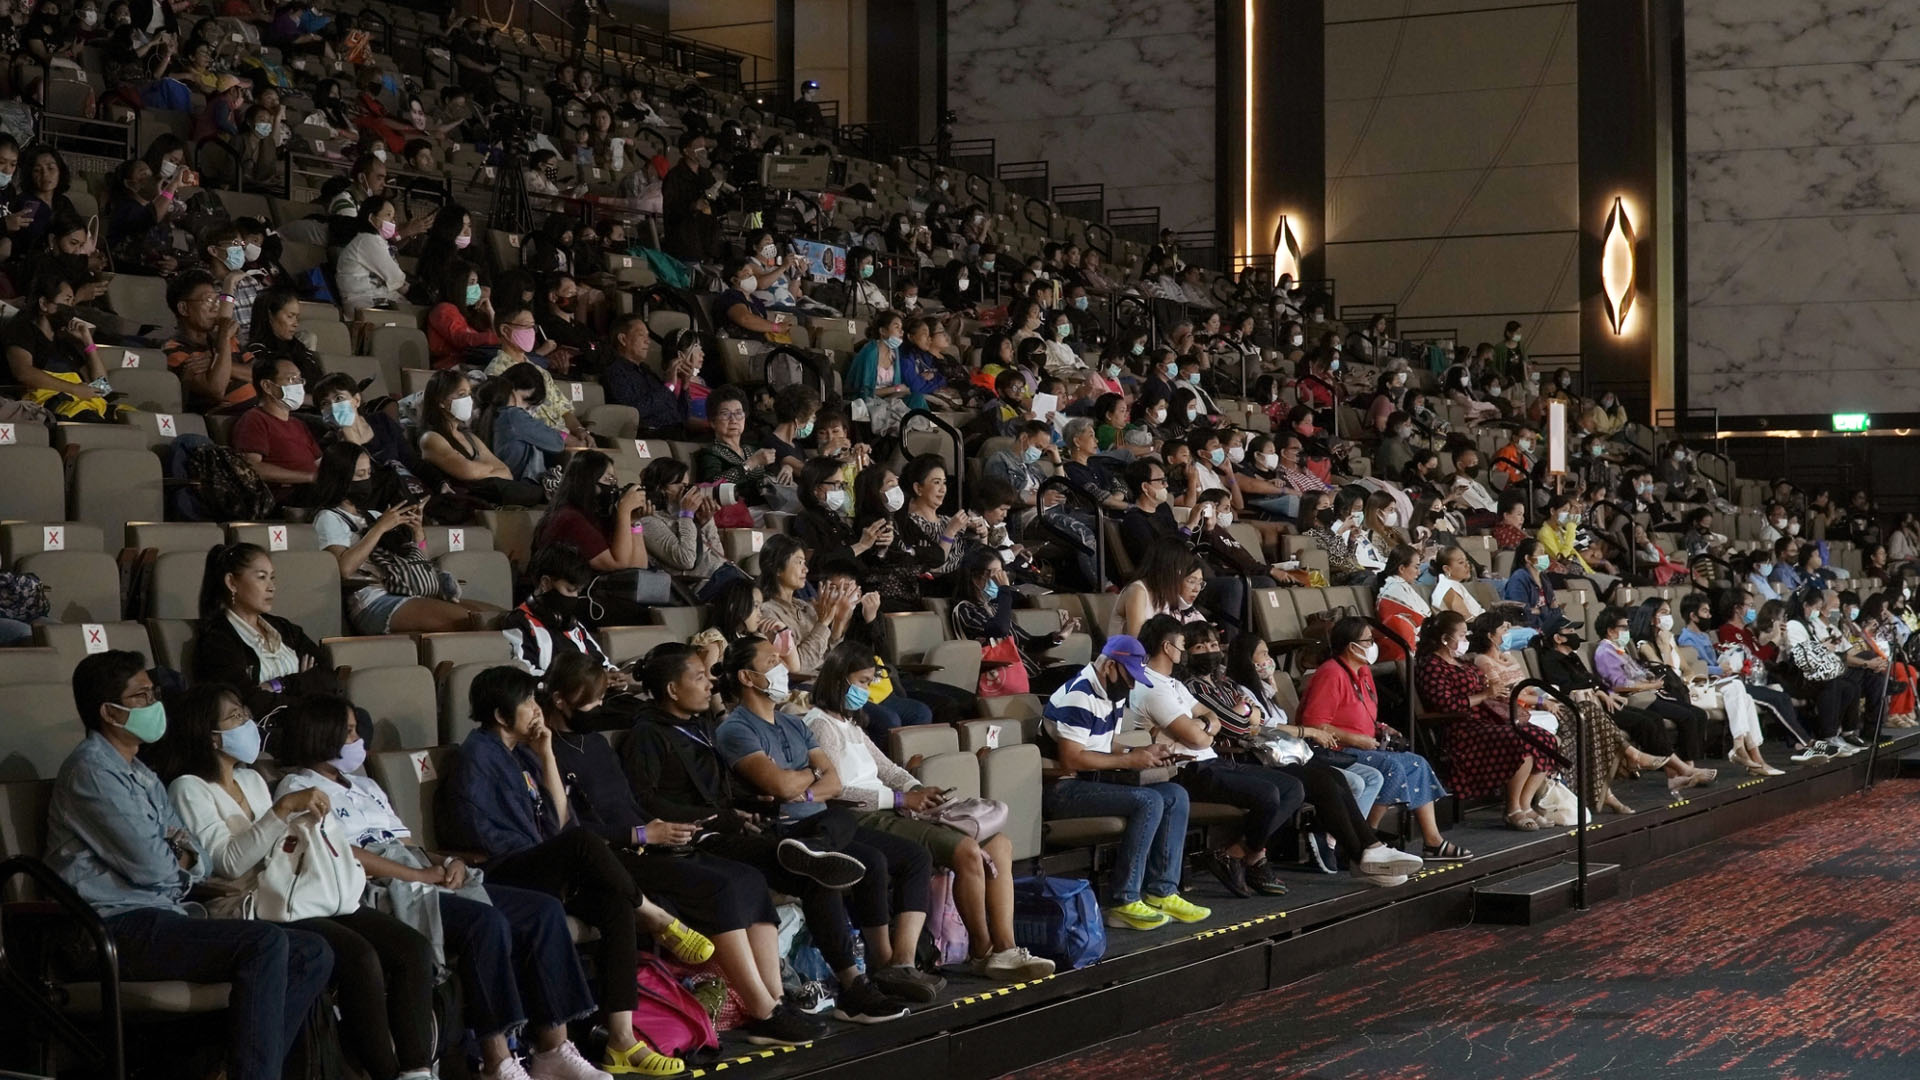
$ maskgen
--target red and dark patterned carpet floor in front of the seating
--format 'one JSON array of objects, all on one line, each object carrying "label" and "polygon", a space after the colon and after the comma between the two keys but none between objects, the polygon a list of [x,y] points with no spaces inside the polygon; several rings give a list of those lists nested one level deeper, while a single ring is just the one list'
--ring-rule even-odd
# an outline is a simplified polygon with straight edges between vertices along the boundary
[{"label": "red and dark patterned carpet floor in front of the seating", "polygon": [[1701,851],[1548,928],[1430,934],[1014,1076],[1920,1076],[1920,782]]}]

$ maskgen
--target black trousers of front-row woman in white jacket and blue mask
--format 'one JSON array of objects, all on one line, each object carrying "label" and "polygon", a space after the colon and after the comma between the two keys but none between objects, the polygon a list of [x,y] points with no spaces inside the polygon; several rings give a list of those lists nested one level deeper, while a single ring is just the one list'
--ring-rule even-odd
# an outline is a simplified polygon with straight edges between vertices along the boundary
[{"label": "black trousers of front-row woman in white jacket and blue mask", "polygon": [[334,949],[340,1042],[372,1080],[434,1063],[434,945],[399,919],[355,909],[292,922]]}]

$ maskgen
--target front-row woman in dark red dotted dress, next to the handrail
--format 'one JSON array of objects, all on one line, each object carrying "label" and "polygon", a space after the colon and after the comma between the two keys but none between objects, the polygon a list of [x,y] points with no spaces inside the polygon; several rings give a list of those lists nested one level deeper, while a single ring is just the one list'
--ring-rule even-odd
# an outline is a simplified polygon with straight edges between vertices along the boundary
[{"label": "front-row woman in dark red dotted dress, next to the handrail", "polygon": [[1467,659],[1467,621],[1457,611],[1436,611],[1421,626],[1413,682],[1427,711],[1461,717],[1446,728],[1448,786],[1467,799],[1505,794],[1509,828],[1546,824],[1532,805],[1559,767],[1553,736],[1513,723],[1505,698],[1488,692],[1486,676]]}]

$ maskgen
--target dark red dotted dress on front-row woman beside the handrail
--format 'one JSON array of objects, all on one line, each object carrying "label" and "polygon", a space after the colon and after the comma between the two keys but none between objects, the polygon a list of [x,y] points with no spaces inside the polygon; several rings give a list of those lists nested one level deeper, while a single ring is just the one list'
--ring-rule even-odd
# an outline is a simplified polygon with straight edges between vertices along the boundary
[{"label": "dark red dotted dress on front-row woman beside the handrail", "polygon": [[1459,713],[1446,728],[1448,786],[1465,799],[1500,796],[1507,780],[1532,759],[1540,773],[1561,767],[1553,736],[1528,723],[1507,717],[1507,701],[1490,698],[1473,705],[1475,694],[1488,690],[1486,676],[1467,663],[1442,657],[1421,657],[1413,682],[1421,701],[1434,713]]}]

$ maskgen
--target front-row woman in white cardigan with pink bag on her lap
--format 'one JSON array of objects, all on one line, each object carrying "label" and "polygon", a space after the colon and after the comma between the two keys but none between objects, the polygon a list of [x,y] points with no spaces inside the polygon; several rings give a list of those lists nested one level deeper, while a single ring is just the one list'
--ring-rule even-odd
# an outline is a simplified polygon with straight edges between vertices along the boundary
[{"label": "front-row woman in white cardigan with pink bag on her lap", "polygon": [[854,642],[833,646],[814,676],[814,707],[806,726],[820,749],[833,759],[843,799],[860,803],[862,828],[891,832],[927,847],[935,867],[954,872],[952,899],[966,922],[973,974],[1025,982],[1054,972],[1054,963],[1014,944],[1014,846],[1006,834],[975,842],[966,832],[910,817],[947,801],[925,788],[874,746],[860,724],[860,709],[874,682],[874,650]]}]

